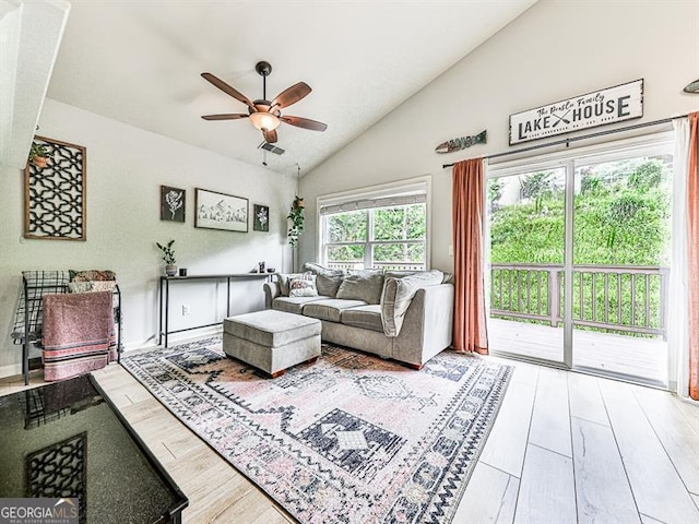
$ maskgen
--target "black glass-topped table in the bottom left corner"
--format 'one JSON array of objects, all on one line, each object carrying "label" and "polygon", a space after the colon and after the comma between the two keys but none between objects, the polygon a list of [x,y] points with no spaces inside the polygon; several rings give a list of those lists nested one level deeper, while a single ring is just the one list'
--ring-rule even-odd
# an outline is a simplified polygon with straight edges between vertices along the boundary
[{"label": "black glass-topped table in the bottom left corner", "polygon": [[0,396],[0,498],[76,497],[81,524],[179,524],[188,504],[91,376]]}]

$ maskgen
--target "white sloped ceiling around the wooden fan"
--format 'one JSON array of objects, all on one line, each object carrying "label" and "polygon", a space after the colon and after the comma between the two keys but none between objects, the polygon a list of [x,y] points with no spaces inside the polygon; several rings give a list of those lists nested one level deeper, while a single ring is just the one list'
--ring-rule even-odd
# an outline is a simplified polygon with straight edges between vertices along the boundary
[{"label": "white sloped ceiling around the wooden fan", "polygon": [[283,114],[328,123],[282,124],[286,153],[268,154],[269,168],[308,171],[535,1],[75,0],[48,96],[260,165],[249,122],[200,118],[246,111],[200,73],[261,98],[254,64],[266,60],[268,98],[305,81],[312,93]]}]

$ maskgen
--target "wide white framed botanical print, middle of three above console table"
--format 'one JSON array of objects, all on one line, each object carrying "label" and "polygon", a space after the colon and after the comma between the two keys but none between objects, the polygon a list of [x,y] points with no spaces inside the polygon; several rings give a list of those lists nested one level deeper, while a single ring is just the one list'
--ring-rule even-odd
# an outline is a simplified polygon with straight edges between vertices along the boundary
[{"label": "wide white framed botanical print, middle of three above console table", "polygon": [[194,227],[248,233],[248,199],[200,188],[194,191]]}]

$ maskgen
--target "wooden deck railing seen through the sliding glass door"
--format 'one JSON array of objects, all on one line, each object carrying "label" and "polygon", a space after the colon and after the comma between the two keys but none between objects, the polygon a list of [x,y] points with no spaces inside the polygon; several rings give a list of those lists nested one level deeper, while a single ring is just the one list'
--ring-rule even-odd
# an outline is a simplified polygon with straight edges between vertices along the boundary
[{"label": "wooden deck railing seen through the sliding glass door", "polygon": [[[661,266],[573,265],[573,325],[664,337],[668,272]],[[562,274],[562,264],[491,264],[490,314],[558,326]]]}]

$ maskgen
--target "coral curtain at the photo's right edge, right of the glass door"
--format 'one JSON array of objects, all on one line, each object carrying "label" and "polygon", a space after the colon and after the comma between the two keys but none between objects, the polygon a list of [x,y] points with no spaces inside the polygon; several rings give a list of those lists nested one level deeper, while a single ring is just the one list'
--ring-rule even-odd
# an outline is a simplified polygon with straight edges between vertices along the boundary
[{"label": "coral curtain at the photo's right edge, right of the glass door", "polygon": [[699,112],[689,115],[687,171],[689,274],[689,396],[699,401]]}]

